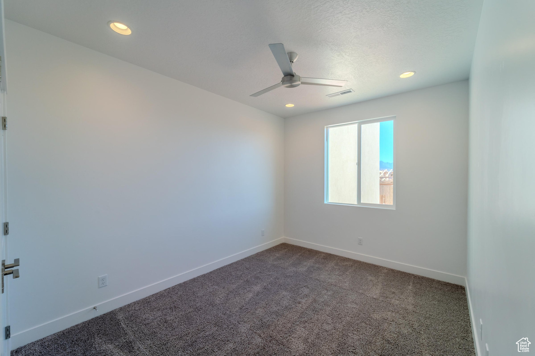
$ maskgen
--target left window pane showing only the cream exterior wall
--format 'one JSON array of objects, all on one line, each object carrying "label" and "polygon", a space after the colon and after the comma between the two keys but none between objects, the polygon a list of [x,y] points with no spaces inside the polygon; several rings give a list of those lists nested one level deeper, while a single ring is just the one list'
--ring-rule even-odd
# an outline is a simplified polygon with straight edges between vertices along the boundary
[{"label": "left window pane showing only the cream exterior wall", "polygon": [[330,203],[357,204],[357,128],[353,124],[327,131],[327,201]]}]

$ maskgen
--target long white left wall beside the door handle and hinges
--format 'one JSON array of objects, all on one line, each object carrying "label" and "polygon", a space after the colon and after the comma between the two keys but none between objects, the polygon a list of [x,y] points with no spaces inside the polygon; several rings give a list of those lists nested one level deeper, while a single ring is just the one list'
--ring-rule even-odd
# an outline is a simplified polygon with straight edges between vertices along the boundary
[{"label": "long white left wall beside the door handle and hinges", "polygon": [[14,346],[282,237],[280,117],[6,22]]}]

